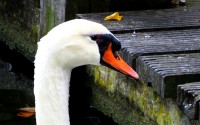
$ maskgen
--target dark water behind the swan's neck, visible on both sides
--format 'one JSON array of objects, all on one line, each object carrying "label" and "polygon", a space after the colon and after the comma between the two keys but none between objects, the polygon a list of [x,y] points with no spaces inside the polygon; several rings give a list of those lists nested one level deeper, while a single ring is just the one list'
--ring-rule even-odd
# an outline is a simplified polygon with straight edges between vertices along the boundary
[{"label": "dark water behind the swan's neck, visible on both sides", "polygon": [[[7,81],[0,81],[0,125],[36,125],[35,117],[16,116],[20,107],[26,107],[27,104],[34,106],[33,85],[30,85],[31,81],[33,82],[33,63],[0,41],[1,60],[4,63],[0,65],[0,79]],[[10,68],[5,68],[4,64]],[[71,125],[117,125],[112,118],[106,117],[90,104],[91,89],[86,83],[86,78],[85,66],[72,71],[69,99]],[[18,86],[15,86],[16,83]],[[11,116],[5,116],[4,113]],[[7,117],[7,120],[4,117]]]}]

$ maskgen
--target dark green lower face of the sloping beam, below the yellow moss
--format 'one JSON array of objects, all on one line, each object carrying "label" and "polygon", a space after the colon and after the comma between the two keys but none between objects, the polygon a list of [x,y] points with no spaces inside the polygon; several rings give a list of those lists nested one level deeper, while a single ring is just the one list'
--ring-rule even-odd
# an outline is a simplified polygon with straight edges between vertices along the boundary
[{"label": "dark green lower face of the sloping beam, below the yellow moss", "polygon": [[156,125],[154,122],[143,118],[143,114],[140,111],[129,107],[127,98],[123,98],[120,94],[109,93],[94,84],[92,88],[92,105],[104,112],[105,115],[112,117],[119,125]]}]

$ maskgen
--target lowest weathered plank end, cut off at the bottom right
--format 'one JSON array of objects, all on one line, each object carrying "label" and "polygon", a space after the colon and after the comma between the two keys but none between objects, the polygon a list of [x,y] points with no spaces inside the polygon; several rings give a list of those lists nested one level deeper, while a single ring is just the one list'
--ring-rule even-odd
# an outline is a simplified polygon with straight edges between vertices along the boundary
[{"label": "lowest weathered plank end, cut off at the bottom right", "polygon": [[186,83],[177,87],[177,103],[190,119],[200,120],[200,82]]}]

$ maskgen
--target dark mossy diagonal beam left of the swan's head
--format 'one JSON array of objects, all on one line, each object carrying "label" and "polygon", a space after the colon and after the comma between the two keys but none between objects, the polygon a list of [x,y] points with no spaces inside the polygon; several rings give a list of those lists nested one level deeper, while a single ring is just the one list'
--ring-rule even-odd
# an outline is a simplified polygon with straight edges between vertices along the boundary
[{"label": "dark mossy diagonal beam left of the swan's head", "polygon": [[[0,40],[5,42],[11,49],[22,53],[30,61],[34,60],[37,48],[35,41],[38,39],[32,37],[32,34],[30,29],[21,27],[18,22],[10,22],[0,18]],[[38,32],[35,34],[38,34]]]}]

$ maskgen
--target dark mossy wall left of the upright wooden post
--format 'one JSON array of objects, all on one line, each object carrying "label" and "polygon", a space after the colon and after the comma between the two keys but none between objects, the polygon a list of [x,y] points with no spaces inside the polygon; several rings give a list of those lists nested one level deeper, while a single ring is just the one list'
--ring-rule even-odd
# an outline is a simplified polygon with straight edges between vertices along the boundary
[{"label": "dark mossy wall left of the upright wooden post", "polygon": [[0,41],[33,61],[39,32],[38,0],[0,1]]}]

